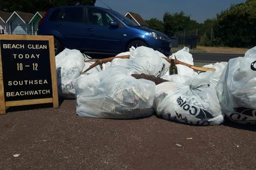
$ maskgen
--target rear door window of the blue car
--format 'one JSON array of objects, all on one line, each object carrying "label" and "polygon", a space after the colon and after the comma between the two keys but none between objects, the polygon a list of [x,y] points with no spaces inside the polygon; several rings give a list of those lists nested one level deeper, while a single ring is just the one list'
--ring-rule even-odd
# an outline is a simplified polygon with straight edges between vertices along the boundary
[{"label": "rear door window of the blue car", "polygon": [[73,8],[64,8],[60,13],[60,21],[66,22],[84,22],[84,9],[73,7]]}]

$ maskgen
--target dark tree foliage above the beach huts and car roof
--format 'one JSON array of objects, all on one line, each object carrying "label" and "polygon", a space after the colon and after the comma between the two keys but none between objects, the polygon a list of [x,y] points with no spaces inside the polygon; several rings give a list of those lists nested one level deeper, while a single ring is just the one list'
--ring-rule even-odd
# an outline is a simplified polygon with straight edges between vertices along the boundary
[{"label": "dark tree foliage above the beach huts and car roof", "polygon": [[6,12],[48,11],[52,7],[67,5],[93,5],[96,0],[0,0],[0,10]]}]

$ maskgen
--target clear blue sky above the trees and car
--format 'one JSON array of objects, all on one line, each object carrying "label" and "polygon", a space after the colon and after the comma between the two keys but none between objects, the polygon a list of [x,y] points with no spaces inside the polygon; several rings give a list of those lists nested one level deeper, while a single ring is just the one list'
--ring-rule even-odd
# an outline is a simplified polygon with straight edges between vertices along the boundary
[{"label": "clear blue sky above the trees and car", "polygon": [[[134,12],[140,14],[144,20],[156,17],[163,20],[165,12],[175,13],[184,11],[190,19],[203,23],[206,19],[213,19],[217,13],[226,10],[231,4],[243,3],[246,0],[101,0],[112,10],[120,14]],[[95,6],[106,7],[100,0]]]}]

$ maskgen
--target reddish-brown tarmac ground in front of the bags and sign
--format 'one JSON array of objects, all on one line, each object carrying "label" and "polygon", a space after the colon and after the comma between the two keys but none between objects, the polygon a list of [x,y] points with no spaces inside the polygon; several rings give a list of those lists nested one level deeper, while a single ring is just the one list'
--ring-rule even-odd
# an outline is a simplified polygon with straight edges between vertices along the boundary
[{"label": "reddish-brown tarmac ground in front of the bags and sign", "polygon": [[[0,115],[1,170],[256,169],[256,127],[79,117],[76,101]],[[20,155],[15,155],[20,154]],[[18,156],[18,157],[14,157]]]}]

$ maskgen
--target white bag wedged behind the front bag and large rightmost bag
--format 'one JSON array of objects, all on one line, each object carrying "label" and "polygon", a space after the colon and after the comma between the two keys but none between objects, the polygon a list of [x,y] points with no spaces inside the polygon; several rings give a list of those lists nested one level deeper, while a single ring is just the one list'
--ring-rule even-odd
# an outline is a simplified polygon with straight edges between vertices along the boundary
[{"label": "white bag wedged behind the front bag and large rightmost bag", "polygon": [[[210,77],[210,85],[213,86],[214,88],[216,88],[216,86],[220,80],[220,76],[221,76],[222,72],[225,70],[226,66],[227,66],[227,62],[212,63],[212,64],[207,64],[207,65],[203,66],[203,67],[207,67],[207,68],[215,68],[214,75]],[[199,75],[204,76],[204,74],[207,74],[207,73],[201,72]]]}]

